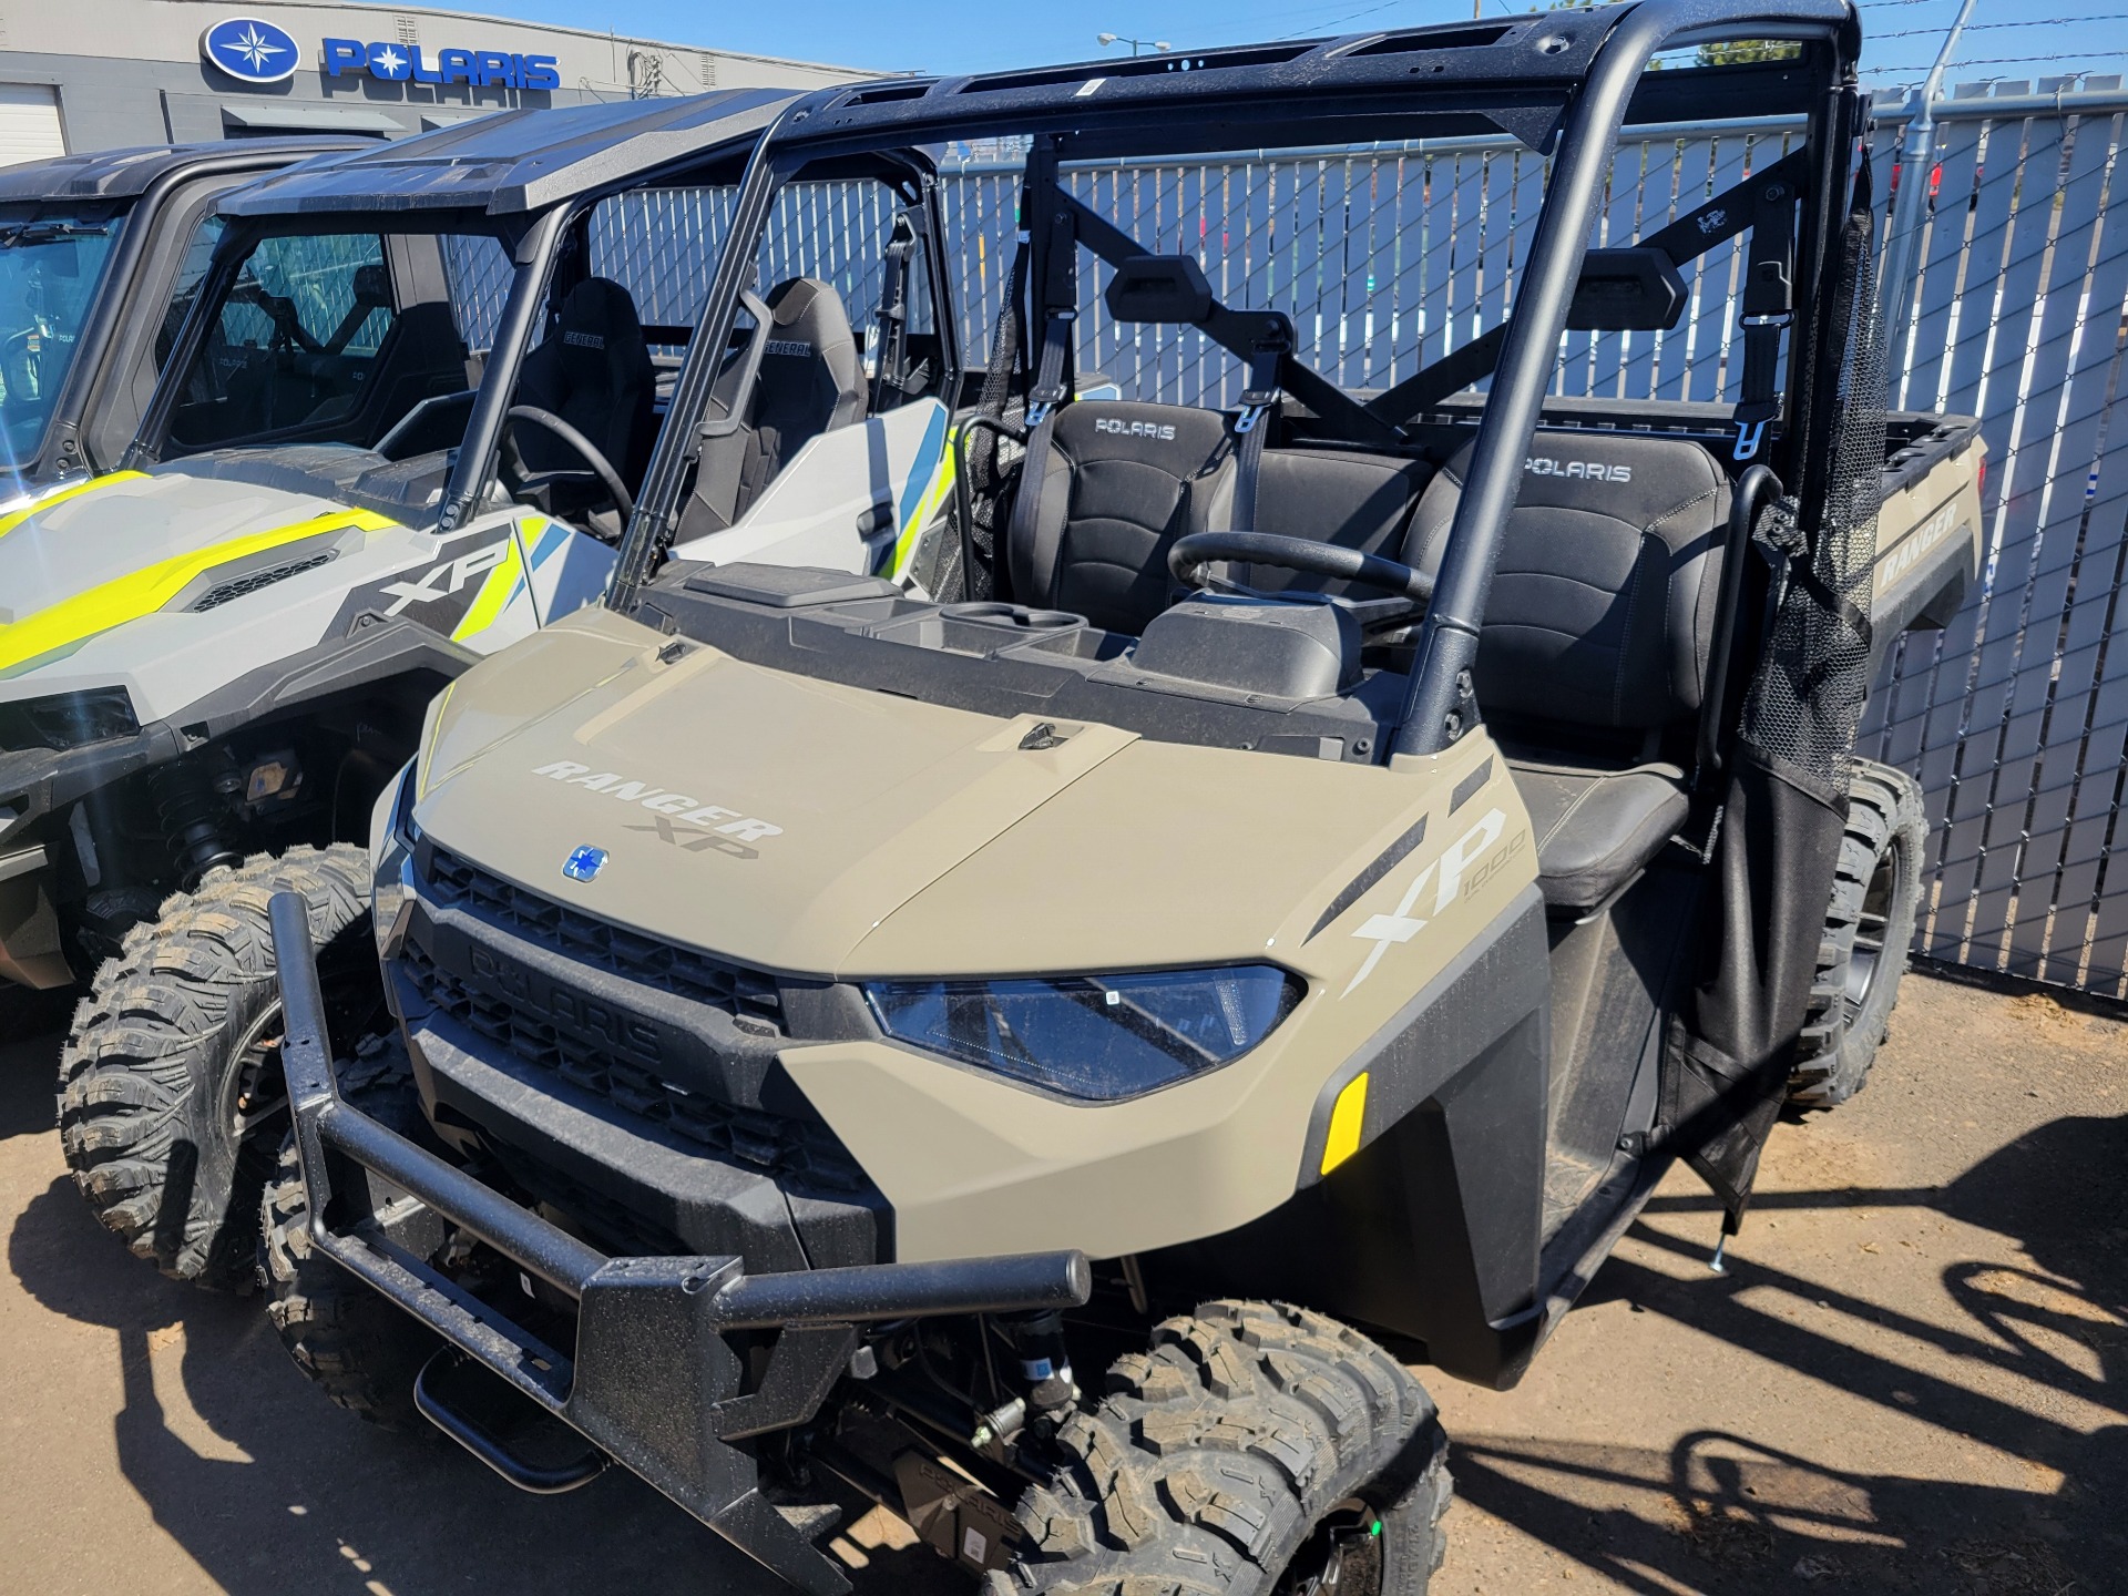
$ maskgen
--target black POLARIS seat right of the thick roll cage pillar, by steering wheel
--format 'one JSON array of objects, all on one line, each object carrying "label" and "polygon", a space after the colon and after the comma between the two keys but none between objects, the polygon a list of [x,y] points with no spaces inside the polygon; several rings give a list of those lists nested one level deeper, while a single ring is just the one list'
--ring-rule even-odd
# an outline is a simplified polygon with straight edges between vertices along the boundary
[{"label": "black POLARIS seat right of the thick roll cage pillar, by steering wheel", "polygon": [[[1436,570],[1470,447],[1413,517]],[[1685,438],[1539,432],[1477,649],[1477,694],[1536,828],[1545,900],[1585,913],[1685,824],[1730,483]],[[1409,555],[1407,555],[1409,558]]]}]

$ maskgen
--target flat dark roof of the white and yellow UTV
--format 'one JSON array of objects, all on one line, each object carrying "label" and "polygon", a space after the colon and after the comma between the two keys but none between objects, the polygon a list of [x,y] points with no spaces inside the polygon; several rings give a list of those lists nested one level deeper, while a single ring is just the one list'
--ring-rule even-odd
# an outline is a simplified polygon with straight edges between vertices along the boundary
[{"label": "flat dark roof of the white and yellow UTV", "polygon": [[343,160],[279,172],[232,196],[221,211],[234,217],[545,211],[560,200],[758,134],[796,98],[792,89],[721,89],[675,100],[496,111]]}]

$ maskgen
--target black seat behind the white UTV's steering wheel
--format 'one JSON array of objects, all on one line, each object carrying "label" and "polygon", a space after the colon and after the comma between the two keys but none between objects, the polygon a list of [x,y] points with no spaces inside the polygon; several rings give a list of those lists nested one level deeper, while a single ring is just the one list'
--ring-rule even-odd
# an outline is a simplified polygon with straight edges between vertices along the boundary
[{"label": "black seat behind the white UTV's steering wheel", "polygon": [[[553,330],[526,355],[517,404],[551,411],[589,438],[634,492],[655,440],[658,370],[636,302],[609,277],[587,277],[562,300]],[[528,472],[587,470],[543,428],[513,428]]]}]

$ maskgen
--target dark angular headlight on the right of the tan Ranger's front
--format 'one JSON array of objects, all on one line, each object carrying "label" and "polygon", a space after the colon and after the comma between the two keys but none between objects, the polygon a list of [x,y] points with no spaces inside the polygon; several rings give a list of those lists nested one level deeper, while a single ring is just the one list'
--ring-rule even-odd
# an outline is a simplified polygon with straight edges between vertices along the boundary
[{"label": "dark angular headlight on the right of the tan Ranger's front", "polygon": [[1300,983],[1270,964],[1036,981],[872,981],[896,1041],[1094,1102],[1232,1064],[1292,1013]]}]

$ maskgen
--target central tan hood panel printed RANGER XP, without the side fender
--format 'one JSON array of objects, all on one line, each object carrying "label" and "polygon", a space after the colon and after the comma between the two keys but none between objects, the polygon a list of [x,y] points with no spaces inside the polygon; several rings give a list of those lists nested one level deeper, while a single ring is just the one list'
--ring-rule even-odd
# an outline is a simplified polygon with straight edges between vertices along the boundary
[{"label": "central tan hood panel printed RANGER XP, without the side fender", "polygon": [[[606,611],[468,672],[440,704],[415,819],[534,892],[651,936],[841,972],[881,919],[1134,738],[1024,749],[1000,721],[807,681]],[[562,706],[538,687],[594,683]],[[562,872],[604,849],[594,879]]]}]

